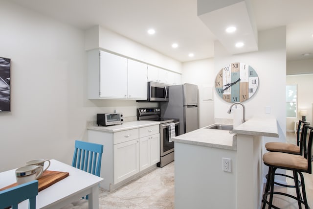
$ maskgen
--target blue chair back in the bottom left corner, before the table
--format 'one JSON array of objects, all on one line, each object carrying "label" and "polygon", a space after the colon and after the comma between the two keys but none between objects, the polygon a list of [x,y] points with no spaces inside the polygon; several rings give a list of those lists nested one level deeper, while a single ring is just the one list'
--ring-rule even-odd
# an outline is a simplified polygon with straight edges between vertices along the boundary
[{"label": "blue chair back in the bottom left corner, before the table", "polygon": [[18,204],[29,199],[28,209],[36,209],[36,196],[38,194],[38,181],[27,182],[0,191],[0,209],[12,207],[17,209]]}]

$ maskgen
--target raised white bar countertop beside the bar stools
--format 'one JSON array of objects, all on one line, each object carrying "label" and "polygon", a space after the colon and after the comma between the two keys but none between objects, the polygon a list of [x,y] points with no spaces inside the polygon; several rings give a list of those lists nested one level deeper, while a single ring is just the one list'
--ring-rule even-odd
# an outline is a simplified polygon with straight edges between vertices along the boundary
[{"label": "raised white bar countertop beside the bar stools", "polygon": [[233,133],[278,138],[277,120],[273,117],[253,117],[237,126]]}]

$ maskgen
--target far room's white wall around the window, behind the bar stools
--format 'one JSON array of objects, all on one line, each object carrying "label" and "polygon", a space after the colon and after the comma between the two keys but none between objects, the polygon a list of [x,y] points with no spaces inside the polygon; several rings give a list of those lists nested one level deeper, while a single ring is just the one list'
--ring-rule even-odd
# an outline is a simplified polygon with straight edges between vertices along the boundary
[{"label": "far room's white wall around the window, behind the bar stools", "polygon": [[[287,63],[287,65],[289,65],[289,63]],[[299,62],[299,65],[294,70],[296,69],[302,69],[301,62]],[[287,85],[297,85],[298,117],[287,117],[286,124],[287,131],[293,131],[293,121],[302,119],[302,116],[300,116],[300,110],[307,110],[308,116],[306,117],[306,120],[311,122],[313,121],[313,74],[287,75],[286,81]]]}]

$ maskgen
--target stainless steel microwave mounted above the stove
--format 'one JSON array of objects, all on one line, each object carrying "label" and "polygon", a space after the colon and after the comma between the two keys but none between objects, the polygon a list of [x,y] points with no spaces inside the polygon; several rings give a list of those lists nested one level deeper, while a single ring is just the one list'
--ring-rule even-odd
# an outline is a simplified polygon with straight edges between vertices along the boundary
[{"label": "stainless steel microwave mounted above the stove", "polygon": [[149,102],[168,102],[169,86],[166,84],[148,82]]}]

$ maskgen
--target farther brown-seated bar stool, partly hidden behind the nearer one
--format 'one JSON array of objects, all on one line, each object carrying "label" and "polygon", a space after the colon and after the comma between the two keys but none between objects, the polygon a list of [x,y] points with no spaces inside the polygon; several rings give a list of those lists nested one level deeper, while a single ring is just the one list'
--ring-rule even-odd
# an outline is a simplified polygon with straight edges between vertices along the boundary
[{"label": "farther brown-seated bar stool, partly hidden behind the nearer one", "polygon": [[[265,148],[269,152],[283,152],[283,153],[289,153],[289,154],[293,154],[293,155],[302,155],[303,145],[304,145],[302,143],[302,141],[303,141],[302,139],[304,136],[306,137],[306,134],[307,134],[307,130],[304,130],[305,125],[310,125],[310,123],[303,121],[303,120],[299,120],[298,129],[297,129],[297,142],[296,142],[296,144],[285,143],[285,142],[268,142],[265,144]],[[301,130],[301,135],[300,135],[300,130]],[[282,173],[275,173],[275,175],[285,176],[285,177],[293,179],[292,176],[282,174]],[[268,179],[268,175],[266,175],[266,179]],[[274,182],[274,184],[279,185],[279,186],[285,186],[285,187],[292,187],[292,188],[295,187],[295,185],[284,185],[284,184],[281,184],[278,182]],[[301,185],[301,182],[298,182],[298,185]]]}]

